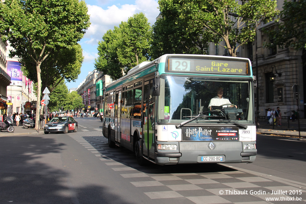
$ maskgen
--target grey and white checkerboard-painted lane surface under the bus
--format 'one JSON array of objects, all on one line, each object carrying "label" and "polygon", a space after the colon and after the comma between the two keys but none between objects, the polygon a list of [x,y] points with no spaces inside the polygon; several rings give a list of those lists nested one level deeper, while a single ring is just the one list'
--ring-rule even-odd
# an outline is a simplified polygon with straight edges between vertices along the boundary
[{"label": "grey and white checkerboard-painted lane surface under the bus", "polygon": [[[132,151],[125,148],[109,148],[108,139],[104,138],[100,130],[77,132],[70,137],[91,151],[101,162],[118,172],[122,178],[152,200],[178,198],[181,203],[270,203],[267,197],[282,197],[283,195],[229,195],[225,192],[262,190],[301,190],[301,202],[306,202],[306,184],[284,182],[284,179],[256,172],[236,170],[227,165],[199,164],[199,165],[168,165],[159,166],[149,164],[140,167]],[[89,136],[90,134],[90,136]],[[217,169],[214,169],[217,165]],[[297,185],[298,183],[298,185]],[[300,187],[298,187],[300,186]],[[223,192],[220,193],[220,192]],[[291,197],[286,195],[287,197]],[[166,202],[166,200],[165,200]],[[296,202],[298,203],[298,202]]]}]

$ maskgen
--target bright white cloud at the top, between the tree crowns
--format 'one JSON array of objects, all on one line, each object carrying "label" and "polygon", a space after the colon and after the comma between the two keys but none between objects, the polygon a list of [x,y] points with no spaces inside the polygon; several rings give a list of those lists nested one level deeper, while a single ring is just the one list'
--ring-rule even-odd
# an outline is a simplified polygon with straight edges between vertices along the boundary
[{"label": "bright white cloud at the top, between the tree crowns", "polygon": [[107,30],[113,30],[114,26],[119,26],[121,21],[127,21],[133,14],[144,13],[151,25],[155,23],[155,18],[159,14],[157,0],[136,0],[135,5],[112,5],[105,10],[96,5],[87,4],[87,7],[91,25],[84,38],[89,39],[85,43],[91,45],[96,45]]}]

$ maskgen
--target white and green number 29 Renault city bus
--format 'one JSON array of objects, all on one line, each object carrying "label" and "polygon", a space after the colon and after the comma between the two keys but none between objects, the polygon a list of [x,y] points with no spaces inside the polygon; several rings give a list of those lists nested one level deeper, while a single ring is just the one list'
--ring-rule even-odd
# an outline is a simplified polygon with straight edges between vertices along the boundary
[{"label": "white and green number 29 Renault city bus", "polygon": [[[226,104],[210,104],[220,87]],[[166,54],[105,87],[102,133],[139,165],[251,163],[254,87],[247,58]]]}]

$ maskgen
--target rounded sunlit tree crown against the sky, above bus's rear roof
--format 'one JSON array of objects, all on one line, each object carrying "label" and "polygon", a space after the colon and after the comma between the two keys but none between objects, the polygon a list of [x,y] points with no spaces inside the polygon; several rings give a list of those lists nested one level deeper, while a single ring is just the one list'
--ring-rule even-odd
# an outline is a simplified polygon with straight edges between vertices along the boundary
[{"label": "rounded sunlit tree crown against the sky, above bus's rear roof", "polygon": [[152,29],[143,13],[134,14],[119,27],[108,30],[99,41],[95,68],[119,79],[141,62],[150,59]]}]

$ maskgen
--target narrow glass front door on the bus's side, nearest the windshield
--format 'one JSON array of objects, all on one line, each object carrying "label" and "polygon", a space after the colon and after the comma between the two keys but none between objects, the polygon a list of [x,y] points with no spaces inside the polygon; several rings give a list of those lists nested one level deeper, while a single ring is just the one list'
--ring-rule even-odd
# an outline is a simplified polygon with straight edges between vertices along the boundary
[{"label": "narrow glass front door on the bus's side, nearest the windshield", "polygon": [[143,155],[150,160],[155,159],[155,97],[152,96],[153,80],[147,81],[144,84],[144,98],[143,98],[143,138],[142,150]]}]

